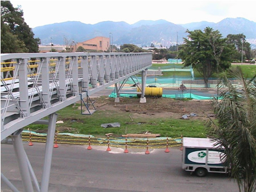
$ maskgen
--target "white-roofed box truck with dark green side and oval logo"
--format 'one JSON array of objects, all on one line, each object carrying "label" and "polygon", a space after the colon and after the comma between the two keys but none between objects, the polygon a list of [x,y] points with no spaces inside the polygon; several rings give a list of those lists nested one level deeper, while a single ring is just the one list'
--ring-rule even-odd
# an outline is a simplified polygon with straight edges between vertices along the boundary
[{"label": "white-roofed box truck with dark green side and oval logo", "polygon": [[196,176],[204,177],[208,172],[227,173],[228,169],[221,163],[221,150],[214,147],[208,138],[183,138],[182,168]]}]

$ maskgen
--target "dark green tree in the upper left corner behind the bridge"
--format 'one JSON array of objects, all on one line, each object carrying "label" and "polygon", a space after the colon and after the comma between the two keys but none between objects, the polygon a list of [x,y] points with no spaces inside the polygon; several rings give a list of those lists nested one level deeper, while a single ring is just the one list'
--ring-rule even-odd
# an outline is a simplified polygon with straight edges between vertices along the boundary
[{"label": "dark green tree in the upper left corner behind the bridge", "polygon": [[38,52],[40,39],[24,22],[23,11],[10,1],[1,1],[1,53]]}]

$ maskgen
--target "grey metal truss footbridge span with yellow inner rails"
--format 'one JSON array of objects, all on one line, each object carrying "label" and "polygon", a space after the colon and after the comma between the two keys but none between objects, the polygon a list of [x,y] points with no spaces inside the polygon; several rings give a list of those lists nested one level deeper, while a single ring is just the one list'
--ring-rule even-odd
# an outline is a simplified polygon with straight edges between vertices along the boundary
[{"label": "grey metal truss footbridge span with yellow inner rails", "polygon": [[91,95],[147,69],[151,59],[151,53],[1,54],[1,140],[79,101],[82,91]]}]

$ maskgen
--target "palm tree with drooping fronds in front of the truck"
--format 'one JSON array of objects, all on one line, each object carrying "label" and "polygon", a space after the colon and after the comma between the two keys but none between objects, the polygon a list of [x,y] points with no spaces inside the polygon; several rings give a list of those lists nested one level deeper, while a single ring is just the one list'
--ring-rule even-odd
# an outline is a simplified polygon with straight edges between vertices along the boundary
[{"label": "palm tree with drooping fronds in front of the truck", "polygon": [[240,67],[229,72],[240,86],[232,85],[224,77],[222,82],[228,89],[220,94],[221,101],[212,101],[217,123],[210,120],[208,131],[220,148],[225,147],[221,160],[230,168],[230,176],[237,180],[240,191],[253,192],[256,190],[256,75],[246,80]]}]

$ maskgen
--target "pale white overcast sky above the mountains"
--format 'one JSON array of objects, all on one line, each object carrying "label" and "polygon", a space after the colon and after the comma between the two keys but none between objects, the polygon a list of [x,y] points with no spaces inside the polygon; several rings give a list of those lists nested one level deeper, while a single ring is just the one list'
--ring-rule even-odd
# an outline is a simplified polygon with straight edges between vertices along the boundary
[{"label": "pale white overcast sky above the mountains", "polygon": [[21,6],[31,27],[67,21],[95,24],[111,20],[133,24],[139,20],[165,19],[175,24],[220,22],[246,18],[256,22],[256,1],[11,1]]}]

